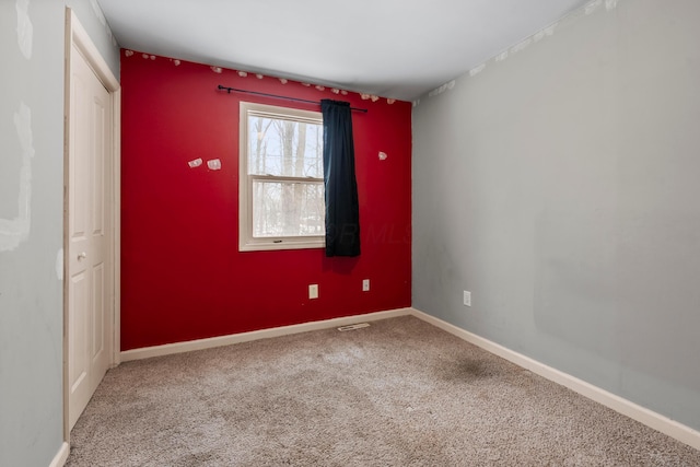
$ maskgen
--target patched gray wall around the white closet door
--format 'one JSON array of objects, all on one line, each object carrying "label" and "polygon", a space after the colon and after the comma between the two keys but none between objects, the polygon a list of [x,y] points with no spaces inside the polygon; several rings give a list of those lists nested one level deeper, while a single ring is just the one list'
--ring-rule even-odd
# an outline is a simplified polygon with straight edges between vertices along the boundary
[{"label": "patched gray wall around the white closet door", "polygon": [[[0,0],[0,465],[48,465],[63,439],[65,7],[118,73],[89,0]],[[118,74],[117,74],[118,75]]]}]

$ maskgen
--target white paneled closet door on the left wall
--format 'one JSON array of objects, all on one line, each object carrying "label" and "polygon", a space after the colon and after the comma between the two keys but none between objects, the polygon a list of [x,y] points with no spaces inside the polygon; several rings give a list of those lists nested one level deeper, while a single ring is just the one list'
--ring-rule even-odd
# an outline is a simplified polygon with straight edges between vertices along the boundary
[{"label": "white paneled closet door on the left wall", "polygon": [[69,428],[110,362],[113,323],[112,101],[80,51],[70,62],[68,167]]}]

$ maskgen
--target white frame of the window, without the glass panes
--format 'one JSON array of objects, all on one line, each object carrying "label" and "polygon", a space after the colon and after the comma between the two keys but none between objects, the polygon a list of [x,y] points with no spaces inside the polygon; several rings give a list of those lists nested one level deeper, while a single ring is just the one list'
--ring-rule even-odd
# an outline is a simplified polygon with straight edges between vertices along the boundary
[{"label": "white frame of the window, without the glass panes", "polygon": [[298,108],[280,107],[276,105],[241,102],[241,121],[238,133],[238,250],[259,252],[279,249],[325,248],[325,235],[316,236],[253,236],[253,182],[255,179],[270,180],[311,180],[323,183],[323,178],[287,177],[272,175],[248,174],[248,116],[259,115],[269,118],[292,119],[310,124],[323,124],[320,112],[301,110]]}]

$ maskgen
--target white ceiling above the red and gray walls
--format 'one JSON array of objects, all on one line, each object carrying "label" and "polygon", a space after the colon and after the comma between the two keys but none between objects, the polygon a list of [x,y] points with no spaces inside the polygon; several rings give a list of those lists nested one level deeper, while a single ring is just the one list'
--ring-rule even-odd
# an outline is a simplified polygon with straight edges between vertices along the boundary
[{"label": "white ceiling above the red and gray walls", "polygon": [[97,0],[124,48],[411,101],[590,0]]}]

